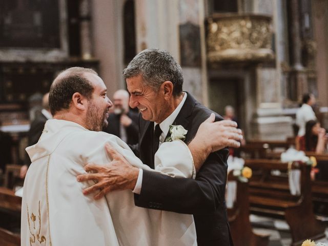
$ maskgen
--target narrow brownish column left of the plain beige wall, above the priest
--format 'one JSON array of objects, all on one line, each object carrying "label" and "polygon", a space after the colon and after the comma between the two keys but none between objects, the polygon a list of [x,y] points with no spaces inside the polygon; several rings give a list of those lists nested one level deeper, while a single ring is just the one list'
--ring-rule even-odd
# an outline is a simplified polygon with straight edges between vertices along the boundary
[{"label": "narrow brownish column left of the plain beige wall, above the priest", "polygon": [[90,59],[92,58],[90,0],[80,1],[79,12],[81,57],[83,59]]}]

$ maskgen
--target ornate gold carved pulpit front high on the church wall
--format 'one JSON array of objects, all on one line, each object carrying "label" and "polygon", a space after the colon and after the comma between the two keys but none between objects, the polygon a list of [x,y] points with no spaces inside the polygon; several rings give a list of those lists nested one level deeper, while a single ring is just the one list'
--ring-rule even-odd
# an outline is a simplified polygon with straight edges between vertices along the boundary
[{"label": "ornate gold carved pulpit front high on the church wall", "polygon": [[207,44],[210,62],[273,59],[271,17],[214,14],[208,18]]}]

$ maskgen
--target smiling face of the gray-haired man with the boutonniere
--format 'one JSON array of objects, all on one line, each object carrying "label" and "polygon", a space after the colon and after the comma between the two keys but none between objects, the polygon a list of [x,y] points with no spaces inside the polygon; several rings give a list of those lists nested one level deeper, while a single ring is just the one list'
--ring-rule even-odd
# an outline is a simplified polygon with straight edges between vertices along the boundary
[{"label": "smiling face of the gray-haired man with the boutonniere", "polygon": [[145,85],[141,75],[127,78],[127,86],[130,92],[130,107],[138,108],[142,118],[160,123],[168,116],[169,104],[164,98],[162,87],[156,92]]}]

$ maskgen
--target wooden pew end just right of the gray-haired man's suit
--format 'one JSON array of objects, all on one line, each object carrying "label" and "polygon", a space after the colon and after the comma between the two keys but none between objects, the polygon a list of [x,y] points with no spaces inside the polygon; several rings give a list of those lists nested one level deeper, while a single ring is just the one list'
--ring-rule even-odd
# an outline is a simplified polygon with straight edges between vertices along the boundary
[{"label": "wooden pew end just right of the gray-haired man's suit", "polygon": [[234,206],[227,210],[234,245],[267,246],[269,243],[269,235],[258,235],[252,230],[248,183],[240,182],[233,176],[232,172],[229,173],[228,180],[237,182],[237,194]]}]

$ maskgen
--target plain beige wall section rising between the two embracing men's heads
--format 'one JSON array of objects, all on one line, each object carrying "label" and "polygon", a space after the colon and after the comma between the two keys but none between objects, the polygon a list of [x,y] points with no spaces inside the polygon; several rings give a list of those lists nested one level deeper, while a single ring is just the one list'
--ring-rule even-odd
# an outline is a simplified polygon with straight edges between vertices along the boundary
[{"label": "plain beige wall section rising between the two embracing men's heads", "polygon": [[92,1],[92,36],[94,57],[100,62],[100,76],[103,78],[108,95],[125,88],[122,78],[123,27],[122,12],[124,0]]}]

